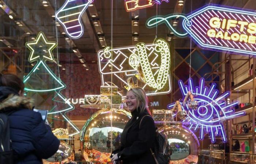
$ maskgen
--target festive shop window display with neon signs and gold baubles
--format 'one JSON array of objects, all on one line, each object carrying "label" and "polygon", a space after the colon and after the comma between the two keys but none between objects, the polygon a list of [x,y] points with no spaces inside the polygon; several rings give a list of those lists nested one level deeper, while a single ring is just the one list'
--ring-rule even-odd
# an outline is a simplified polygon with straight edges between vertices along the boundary
[{"label": "festive shop window display with neon signs and gold baubles", "polygon": [[60,140],[110,164],[142,87],[170,164],[256,164],[255,0],[0,0],[0,71]]}]

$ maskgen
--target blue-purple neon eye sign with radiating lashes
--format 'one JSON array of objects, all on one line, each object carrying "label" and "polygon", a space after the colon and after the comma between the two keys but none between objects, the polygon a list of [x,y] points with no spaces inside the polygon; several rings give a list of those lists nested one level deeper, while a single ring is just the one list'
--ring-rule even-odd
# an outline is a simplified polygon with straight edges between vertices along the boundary
[{"label": "blue-purple neon eye sign with radiating lashes", "polygon": [[[238,105],[237,102],[231,104],[226,104],[224,101],[230,95],[230,92],[225,92],[219,97],[217,97],[219,91],[215,89],[216,84],[212,83],[211,87],[208,89],[204,86],[204,78],[200,79],[199,86],[193,86],[193,80],[188,79],[188,86],[179,80],[178,84],[180,86],[183,99],[187,95],[188,91],[195,94],[195,101],[197,101],[197,110],[190,109],[187,104],[182,104],[182,110],[188,113],[188,117],[184,120],[184,125],[188,125],[189,129],[195,132],[200,129],[200,140],[204,139],[204,133],[209,133],[211,142],[216,141],[215,136],[220,136],[223,142],[227,142],[227,137],[225,134],[225,129],[223,127],[223,121],[241,117],[245,112],[235,112],[234,106]],[[183,100],[182,99],[182,100]],[[172,109],[175,103],[170,104],[167,108]]]}]

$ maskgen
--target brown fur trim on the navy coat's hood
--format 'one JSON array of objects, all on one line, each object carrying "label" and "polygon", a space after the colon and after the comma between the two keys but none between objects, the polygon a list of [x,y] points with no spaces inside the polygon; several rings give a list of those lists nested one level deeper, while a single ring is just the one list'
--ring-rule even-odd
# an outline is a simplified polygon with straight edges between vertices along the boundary
[{"label": "brown fur trim on the navy coat's hood", "polygon": [[26,108],[33,109],[34,101],[31,98],[10,94],[6,99],[0,102],[0,111],[5,109]]}]

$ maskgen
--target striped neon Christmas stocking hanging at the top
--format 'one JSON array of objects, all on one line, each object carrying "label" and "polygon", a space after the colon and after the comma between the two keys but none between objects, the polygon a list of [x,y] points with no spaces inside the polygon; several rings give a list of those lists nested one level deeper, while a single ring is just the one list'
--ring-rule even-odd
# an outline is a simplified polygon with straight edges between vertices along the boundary
[{"label": "striped neon Christmas stocking hanging at the top", "polygon": [[94,0],[67,0],[56,12],[55,17],[64,27],[66,34],[73,39],[83,35],[83,24],[81,17],[88,6]]}]

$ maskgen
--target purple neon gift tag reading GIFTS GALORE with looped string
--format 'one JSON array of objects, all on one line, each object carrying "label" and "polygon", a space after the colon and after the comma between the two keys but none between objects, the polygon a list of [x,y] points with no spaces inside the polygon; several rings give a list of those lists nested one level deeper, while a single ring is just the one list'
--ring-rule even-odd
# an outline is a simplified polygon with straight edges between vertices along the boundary
[{"label": "purple neon gift tag reading GIFTS GALORE with looped string", "polygon": [[[169,19],[181,16],[185,33],[177,32]],[[256,13],[220,5],[207,5],[191,14],[154,16],[148,28],[165,23],[179,37],[191,36],[201,47],[233,54],[256,55]]]}]

